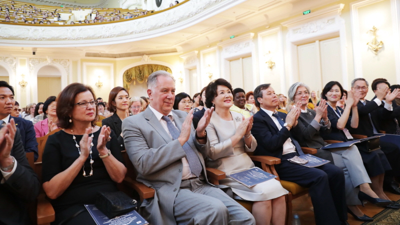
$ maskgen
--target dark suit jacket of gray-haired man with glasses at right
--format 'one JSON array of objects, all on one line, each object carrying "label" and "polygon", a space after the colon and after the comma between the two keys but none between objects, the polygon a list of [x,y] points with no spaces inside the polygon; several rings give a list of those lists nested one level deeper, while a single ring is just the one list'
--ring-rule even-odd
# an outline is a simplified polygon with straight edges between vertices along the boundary
[{"label": "dark suit jacket of gray-haired man with glasses at right", "polygon": [[[362,104],[361,101],[358,101],[358,103],[357,103],[358,127],[357,128],[349,127],[350,133],[362,134],[362,135],[366,135],[368,137],[373,136],[373,127],[372,127],[371,120],[377,130],[379,129],[379,125],[376,121],[374,121],[373,116],[372,116],[373,113],[371,113],[371,112],[373,112],[374,110],[376,110],[379,107],[383,107],[383,105],[382,104],[377,105],[376,102],[368,101],[368,100],[365,100],[365,105],[364,105],[364,104]],[[386,110],[385,108],[383,108],[383,109]],[[386,110],[387,112],[385,112],[384,110],[380,110],[379,116],[389,116],[390,115],[391,112],[389,110]],[[371,120],[369,119],[368,113],[371,113]],[[381,113],[383,113],[383,114],[381,114]]]}]

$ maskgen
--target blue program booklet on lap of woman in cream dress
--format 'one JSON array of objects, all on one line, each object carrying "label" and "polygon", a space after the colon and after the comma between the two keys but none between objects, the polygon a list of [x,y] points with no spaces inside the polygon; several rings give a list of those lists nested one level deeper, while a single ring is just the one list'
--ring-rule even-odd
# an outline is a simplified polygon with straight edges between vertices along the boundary
[{"label": "blue program booklet on lap of woman in cream dress", "polygon": [[261,183],[277,177],[273,174],[265,172],[258,167],[253,167],[241,172],[232,173],[227,176],[248,187],[252,187],[257,183]]}]

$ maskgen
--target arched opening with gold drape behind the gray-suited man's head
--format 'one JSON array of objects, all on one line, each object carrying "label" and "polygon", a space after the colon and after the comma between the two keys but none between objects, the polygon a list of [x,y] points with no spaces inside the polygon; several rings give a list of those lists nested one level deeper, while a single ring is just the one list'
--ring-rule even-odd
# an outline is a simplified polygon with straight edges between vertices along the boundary
[{"label": "arched opening with gold drape behind the gray-suited man's head", "polygon": [[157,70],[172,73],[168,66],[159,64],[143,64],[126,69],[123,72],[123,87],[128,90],[129,96],[147,96],[147,77]]}]

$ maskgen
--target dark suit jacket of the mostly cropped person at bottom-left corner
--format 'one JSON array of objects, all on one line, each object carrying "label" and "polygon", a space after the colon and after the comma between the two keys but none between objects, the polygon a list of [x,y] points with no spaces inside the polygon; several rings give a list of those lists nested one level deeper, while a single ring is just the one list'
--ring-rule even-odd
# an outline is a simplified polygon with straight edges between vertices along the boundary
[{"label": "dark suit jacket of the mostly cropped person at bottom-left corner", "polygon": [[[26,203],[36,199],[40,183],[26,159],[18,128],[11,156],[16,160],[16,168],[14,173],[0,184],[0,224],[29,224]],[[3,175],[0,172],[0,180],[2,179]]]}]

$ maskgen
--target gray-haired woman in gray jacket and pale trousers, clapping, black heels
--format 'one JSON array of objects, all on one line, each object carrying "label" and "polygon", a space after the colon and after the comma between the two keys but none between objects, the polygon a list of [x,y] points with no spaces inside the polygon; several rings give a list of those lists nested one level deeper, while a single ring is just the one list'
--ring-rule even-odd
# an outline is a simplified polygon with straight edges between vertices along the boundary
[{"label": "gray-haired woman in gray jacket and pale trousers, clapping, black heels", "polygon": [[[299,132],[301,136],[296,136],[300,146],[312,147],[319,151],[321,147],[327,145],[322,139],[321,134],[330,133],[332,129],[331,123],[327,117],[328,104],[326,104],[325,99],[321,99],[319,105],[315,107],[315,111],[306,108],[309,93],[307,85],[302,82],[296,82],[290,86],[288,97],[289,101],[293,103],[301,103],[301,114],[297,120],[297,126],[301,129],[301,132]],[[353,102],[349,103],[352,104]],[[362,201],[368,200],[377,206],[386,206],[390,204],[391,201],[379,198],[370,188],[369,183],[371,183],[371,180],[365,170],[358,148],[355,145],[350,147],[329,148],[329,151],[334,164],[344,172],[348,212],[357,220],[371,221],[372,218],[363,214],[357,205],[363,205]],[[330,160],[324,155],[317,156]],[[359,189],[356,187],[359,187]],[[362,214],[362,216],[356,216],[355,214]]]}]

